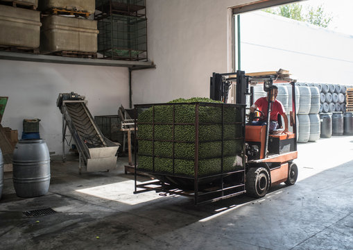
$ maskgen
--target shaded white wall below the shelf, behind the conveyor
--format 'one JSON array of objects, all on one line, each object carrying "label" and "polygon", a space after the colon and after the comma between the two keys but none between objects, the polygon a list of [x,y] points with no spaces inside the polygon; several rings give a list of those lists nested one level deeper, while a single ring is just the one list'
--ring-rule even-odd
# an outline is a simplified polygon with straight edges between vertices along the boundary
[{"label": "shaded white wall below the shelf, behind the conveyor", "polygon": [[0,60],[0,90],[0,96],[9,97],[1,125],[17,129],[21,138],[23,119],[39,118],[49,151],[61,154],[58,94],[84,95],[93,116],[117,115],[119,106],[129,103],[128,69]]}]

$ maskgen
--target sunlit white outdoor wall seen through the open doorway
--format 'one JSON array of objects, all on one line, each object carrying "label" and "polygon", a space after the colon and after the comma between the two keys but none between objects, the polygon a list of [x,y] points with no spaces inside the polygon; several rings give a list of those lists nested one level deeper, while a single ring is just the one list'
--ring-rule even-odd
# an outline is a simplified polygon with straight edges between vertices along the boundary
[{"label": "sunlit white outdoor wall seen through the open doorway", "polygon": [[301,82],[353,85],[353,36],[257,11],[241,15],[241,69],[288,69]]}]

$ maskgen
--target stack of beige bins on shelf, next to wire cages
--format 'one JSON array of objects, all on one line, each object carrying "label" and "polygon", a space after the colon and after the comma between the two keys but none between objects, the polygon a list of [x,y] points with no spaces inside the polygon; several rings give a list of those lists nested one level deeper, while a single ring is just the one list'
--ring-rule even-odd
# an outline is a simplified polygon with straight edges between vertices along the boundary
[{"label": "stack of beige bins on shelf, next to wire cages", "polygon": [[97,22],[94,0],[40,0],[42,31],[40,51],[43,54],[96,58]]}]

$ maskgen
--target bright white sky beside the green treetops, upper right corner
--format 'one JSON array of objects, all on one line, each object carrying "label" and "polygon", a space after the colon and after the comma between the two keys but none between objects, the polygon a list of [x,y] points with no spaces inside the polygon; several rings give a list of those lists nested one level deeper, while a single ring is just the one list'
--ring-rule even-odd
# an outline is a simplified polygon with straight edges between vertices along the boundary
[{"label": "bright white sky beside the green treetops, upper right corner", "polygon": [[302,6],[320,6],[325,12],[332,13],[333,20],[327,28],[353,35],[352,0],[308,0],[300,2]]}]

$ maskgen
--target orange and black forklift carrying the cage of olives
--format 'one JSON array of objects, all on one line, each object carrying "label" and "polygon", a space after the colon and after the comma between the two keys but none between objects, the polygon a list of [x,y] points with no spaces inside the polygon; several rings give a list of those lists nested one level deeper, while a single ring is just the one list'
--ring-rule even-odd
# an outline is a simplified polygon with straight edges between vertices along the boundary
[{"label": "orange and black forklift carrying the cage of olives", "polygon": [[[260,72],[258,74],[245,74],[243,71],[236,73],[218,74],[214,73],[210,83],[210,98],[227,103],[230,88],[236,88],[235,103],[246,105],[247,96],[250,97],[250,106],[254,103],[253,85],[263,84],[264,91],[268,96],[267,114],[260,110],[246,115],[245,124],[245,153],[246,153],[246,193],[255,198],[264,197],[268,190],[280,183],[293,185],[298,178],[298,167],[293,163],[298,158],[297,151],[297,126],[295,113],[295,81],[279,72],[275,74]],[[286,82],[292,88],[292,111],[290,115],[290,126],[293,133],[270,133],[270,111],[273,104],[273,83]],[[247,106],[247,109],[250,108]],[[253,124],[257,119],[266,117],[266,122],[260,126]],[[279,124],[281,119],[278,119]],[[280,125],[279,125],[280,126]]]}]

